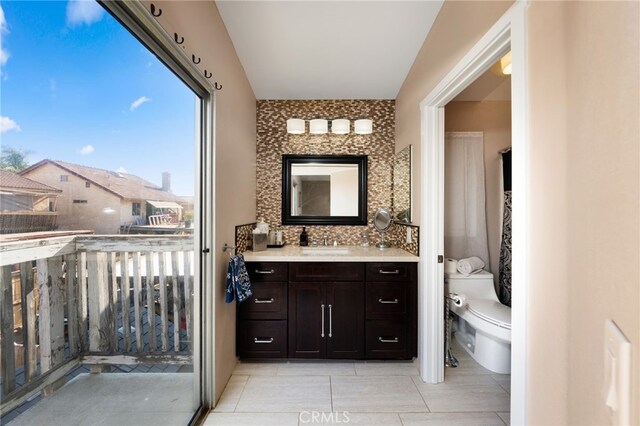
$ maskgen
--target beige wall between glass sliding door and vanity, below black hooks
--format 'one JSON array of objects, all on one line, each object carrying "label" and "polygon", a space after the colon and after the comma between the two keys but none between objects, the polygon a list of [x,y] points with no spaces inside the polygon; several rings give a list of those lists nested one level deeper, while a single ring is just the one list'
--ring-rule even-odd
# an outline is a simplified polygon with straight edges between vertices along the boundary
[{"label": "beige wall between glass sliding door and vanity, below black hooks", "polygon": [[[212,1],[156,3],[158,21],[169,34],[185,38],[187,54],[202,58],[198,65],[222,84],[216,94],[216,235],[212,252],[216,267],[216,398],[220,397],[237,362],[235,303],[224,303],[225,274],[233,245],[234,226],[256,220],[256,99],[244,69]],[[206,285],[206,283],[205,283]]]}]

